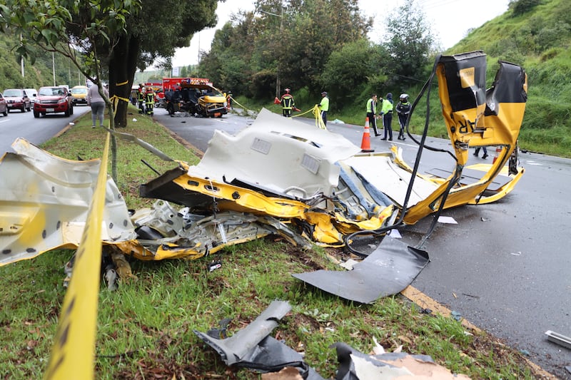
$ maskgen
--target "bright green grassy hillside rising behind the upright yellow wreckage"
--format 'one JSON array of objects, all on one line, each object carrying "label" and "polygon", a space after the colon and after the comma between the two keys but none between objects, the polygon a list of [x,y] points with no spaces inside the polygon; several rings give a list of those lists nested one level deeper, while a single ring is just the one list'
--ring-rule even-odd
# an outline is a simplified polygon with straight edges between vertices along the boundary
[{"label": "bright green grassy hillside rising behind the upright yellow wreckage", "polygon": [[498,59],[517,63],[528,77],[520,145],[571,157],[571,2],[513,1],[510,10],[473,30],[448,53],[482,50],[490,81]]}]

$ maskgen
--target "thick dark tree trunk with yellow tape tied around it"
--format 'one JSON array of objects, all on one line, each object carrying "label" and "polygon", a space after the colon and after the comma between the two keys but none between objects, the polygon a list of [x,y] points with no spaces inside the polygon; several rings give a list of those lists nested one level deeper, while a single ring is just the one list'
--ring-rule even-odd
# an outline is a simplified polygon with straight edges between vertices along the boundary
[{"label": "thick dark tree trunk with yellow tape tied around it", "polygon": [[127,126],[129,96],[137,69],[139,44],[138,37],[121,37],[109,61],[109,96],[115,108],[116,128]]}]

